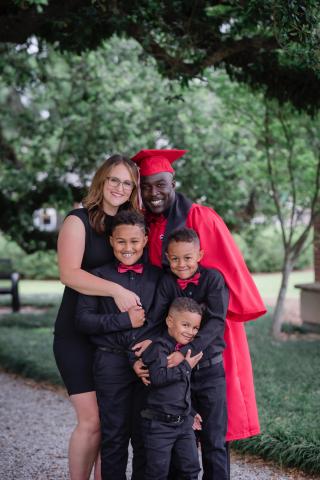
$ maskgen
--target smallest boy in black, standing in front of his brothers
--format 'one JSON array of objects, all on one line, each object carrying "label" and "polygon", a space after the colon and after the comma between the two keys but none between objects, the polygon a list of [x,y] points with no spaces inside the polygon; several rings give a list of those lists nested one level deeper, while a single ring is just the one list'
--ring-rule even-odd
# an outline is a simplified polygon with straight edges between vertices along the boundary
[{"label": "smallest boy in black, standing in front of his brothers", "polygon": [[168,368],[167,358],[193,340],[200,328],[202,310],[191,298],[176,298],[169,308],[168,331],[143,352],[151,385],[142,410],[146,449],[145,480],[166,480],[171,459],[185,480],[197,480],[198,450],[192,430],[190,376],[202,357],[188,351],[178,366]]}]

